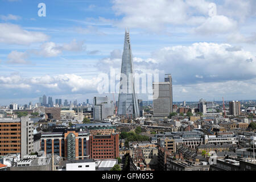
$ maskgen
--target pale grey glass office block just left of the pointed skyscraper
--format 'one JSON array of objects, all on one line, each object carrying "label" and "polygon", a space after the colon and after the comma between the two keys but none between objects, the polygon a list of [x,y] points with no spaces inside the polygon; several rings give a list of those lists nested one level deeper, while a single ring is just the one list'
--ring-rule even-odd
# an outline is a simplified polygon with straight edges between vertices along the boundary
[{"label": "pale grey glass office block just left of the pointed skyscraper", "polygon": [[108,97],[94,97],[93,106],[93,119],[96,121],[102,121],[114,115],[114,104]]}]

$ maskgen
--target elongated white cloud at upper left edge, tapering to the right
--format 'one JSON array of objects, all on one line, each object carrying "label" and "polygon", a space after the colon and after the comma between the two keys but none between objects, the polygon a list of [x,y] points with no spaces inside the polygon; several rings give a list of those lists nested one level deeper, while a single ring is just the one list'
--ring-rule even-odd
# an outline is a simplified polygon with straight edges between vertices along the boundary
[{"label": "elongated white cloud at upper left edge, tapering to the right", "polygon": [[44,42],[48,39],[46,34],[23,30],[20,26],[11,23],[0,23],[0,43],[28,45]]}]

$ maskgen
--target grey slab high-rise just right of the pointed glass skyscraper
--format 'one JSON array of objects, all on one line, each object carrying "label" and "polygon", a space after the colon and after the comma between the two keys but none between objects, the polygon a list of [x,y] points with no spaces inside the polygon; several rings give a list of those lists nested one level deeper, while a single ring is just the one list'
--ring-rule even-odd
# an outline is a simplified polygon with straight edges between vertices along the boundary
[{"label": "grey slab high-rise just right of the pointed glass skyscraper", "polygon": [[164,78],[164,82],[153,82],[153,115],[156,118],[168,117],[172,107],[172,76]]}]

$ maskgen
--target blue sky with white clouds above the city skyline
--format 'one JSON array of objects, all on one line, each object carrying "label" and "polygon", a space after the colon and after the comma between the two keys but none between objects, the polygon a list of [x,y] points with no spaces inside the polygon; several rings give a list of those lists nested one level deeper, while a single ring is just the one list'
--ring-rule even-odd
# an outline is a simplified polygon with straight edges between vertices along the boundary
[{"label": "blue sky with white clouds above the city skyline", "polygon": [[43,94],[113,100],[101,87],[102,74],[113,72],[117,101],[126,28],[134,72],[159,81],[172,74],[174,102],[255,100],[255,7],[254,0],[0,0],[0,105],[35,104]]}]

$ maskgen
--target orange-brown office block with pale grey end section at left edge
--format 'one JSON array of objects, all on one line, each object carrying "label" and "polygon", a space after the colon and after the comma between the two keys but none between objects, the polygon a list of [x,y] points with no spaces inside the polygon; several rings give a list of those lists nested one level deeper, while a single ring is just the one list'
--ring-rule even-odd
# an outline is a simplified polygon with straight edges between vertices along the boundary
[{"label": "orange-brown office block with pale grey end section at left edge", "polygon": [[24,156],[34,152],[32,123],[29,117],[0,119],[0,156],[16,153]]}]

